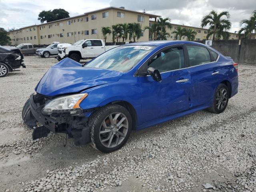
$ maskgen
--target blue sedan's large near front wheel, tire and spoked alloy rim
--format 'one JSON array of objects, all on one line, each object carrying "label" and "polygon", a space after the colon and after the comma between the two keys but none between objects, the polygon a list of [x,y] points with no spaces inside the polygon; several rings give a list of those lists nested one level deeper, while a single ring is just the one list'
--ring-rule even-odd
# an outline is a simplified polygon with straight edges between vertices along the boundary
[{"label": "blue sedan's large near front wheel, tire and spoked alloy rim", "polygon": [[132,131],[132,118],[123,106],[108,105],[94,112],[89,120],[92,146],[109,153],[121,148]]}]

